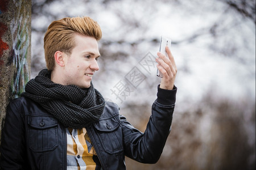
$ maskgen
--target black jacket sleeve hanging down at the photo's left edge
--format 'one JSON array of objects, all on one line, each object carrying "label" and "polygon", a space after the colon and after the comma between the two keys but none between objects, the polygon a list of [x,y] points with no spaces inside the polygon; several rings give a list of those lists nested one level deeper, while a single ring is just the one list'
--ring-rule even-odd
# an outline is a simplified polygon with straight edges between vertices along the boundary
[{"label": "black jacket sleeve hanging down at the photo's left edge", "polygon": [[7,107],[0,146],[0,169],[25,169],[24,118],[15,99]]}]

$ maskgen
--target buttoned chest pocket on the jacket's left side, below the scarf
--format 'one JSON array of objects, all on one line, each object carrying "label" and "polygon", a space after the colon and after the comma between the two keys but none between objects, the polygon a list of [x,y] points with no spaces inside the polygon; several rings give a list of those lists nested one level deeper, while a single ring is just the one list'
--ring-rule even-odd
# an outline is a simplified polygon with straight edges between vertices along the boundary
[{"label": "buttoned chest pocket on the jacket's left side, below the scarf", "polygon": [[35,152],[52,151],[57,147],[57,121],[48,116],[28,116],[28,142]]}]

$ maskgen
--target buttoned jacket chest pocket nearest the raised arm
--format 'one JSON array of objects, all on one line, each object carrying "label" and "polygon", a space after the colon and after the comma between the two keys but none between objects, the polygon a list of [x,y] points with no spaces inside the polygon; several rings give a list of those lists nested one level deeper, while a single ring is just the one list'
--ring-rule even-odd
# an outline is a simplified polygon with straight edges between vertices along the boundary
[{"label": "buttoned jacket chest pocket nearest the raised arm", "polygon": [[100,120],[94,124],[101,146],[108,154],[118,154],[123,151],[121,122],[117,117]]}]

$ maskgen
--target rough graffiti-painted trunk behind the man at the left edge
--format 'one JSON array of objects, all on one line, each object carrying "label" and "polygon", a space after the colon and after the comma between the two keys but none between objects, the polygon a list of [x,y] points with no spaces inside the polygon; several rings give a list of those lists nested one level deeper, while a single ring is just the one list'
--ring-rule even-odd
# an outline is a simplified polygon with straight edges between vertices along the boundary
[{"label": "rough graffiti-painted trunk behind the man at the left edge", "polygon": [[0,0],[0,141],[6,107],[30,79],[31,0]]}]

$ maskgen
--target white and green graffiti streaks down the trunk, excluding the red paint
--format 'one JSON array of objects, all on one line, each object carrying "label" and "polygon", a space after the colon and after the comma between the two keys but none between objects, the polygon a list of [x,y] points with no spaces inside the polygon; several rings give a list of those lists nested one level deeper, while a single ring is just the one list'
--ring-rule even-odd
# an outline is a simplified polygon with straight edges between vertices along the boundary
[{"label": "white and green graffiti streaks down the trunk, excluding the red paint", "polygon": [[11,20],[10,31],[11,38],[13,40],[13,49],[11,54],[13,57],[13,64],[16,66],[12,90],[14,97],[18,97],[24,91],[25,84],[30,79],[27,62],[30,45],[30,36],[28,33],[30,27],[30,16],[22,12],[22,1],[16,2],[15,5],[18,8],[18,15]]}]

